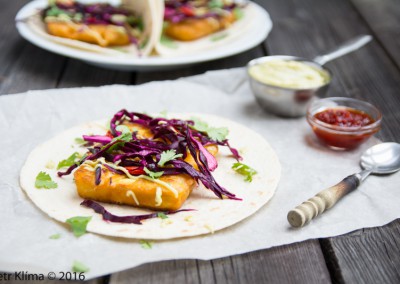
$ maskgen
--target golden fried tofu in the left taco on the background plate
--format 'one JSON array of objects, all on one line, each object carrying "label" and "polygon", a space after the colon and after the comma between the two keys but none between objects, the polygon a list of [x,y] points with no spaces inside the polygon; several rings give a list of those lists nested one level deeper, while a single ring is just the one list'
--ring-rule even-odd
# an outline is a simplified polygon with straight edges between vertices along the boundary
[{"label": "golden fried tofu in the left taco on the background plate", "polygon": [[125,30],[114,25],[84,25],[72,22],[47,22],[47,31],[54,36],[69,38],[102,47],[130,44]]}]

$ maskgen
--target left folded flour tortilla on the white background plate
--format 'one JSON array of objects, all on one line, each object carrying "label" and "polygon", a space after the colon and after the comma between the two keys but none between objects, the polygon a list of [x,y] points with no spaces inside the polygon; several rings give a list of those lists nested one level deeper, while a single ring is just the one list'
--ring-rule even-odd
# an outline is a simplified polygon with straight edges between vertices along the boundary
[{"label": "left folded flour tortilla on the white background plate", "polygon": [[[154,21],[157,18],[156,11],[159,6],[160,0],[123,0],[121,1],[121,6],[127,10],[134,12],[137,15],[141,15],[143,18],[144,31],[142,33],[143,39],[145,39],[144,46],[138,48],[134,44],[120,47],[101,47],[96,44],[91,44],[83,41],[78,41],[74,39],[62,38],[50,35],[46,31],[46,25],[43,22],[41,15],[39,13],[30,16],[27,19],[27,23],[30,29],[40,35],[41,37],[56,42],[58,44],[66,45],[76,49],[81,49],[85,51],[91,51],[96,53],[108,54],[112,56],[147,56],[153,50],[155,41],[159,38],[159,33],[161,28],[156,27],[155,24],[159,24],[159,21]],[[161,0],[162,1],[162,0]],[[93,3],[93,1],[77,1],[81,3]],[[96,1],[104,2],[104,1]],[[155,31],[155,32],[153,32]],[[158,33],[157,33],[158,31]]]}]

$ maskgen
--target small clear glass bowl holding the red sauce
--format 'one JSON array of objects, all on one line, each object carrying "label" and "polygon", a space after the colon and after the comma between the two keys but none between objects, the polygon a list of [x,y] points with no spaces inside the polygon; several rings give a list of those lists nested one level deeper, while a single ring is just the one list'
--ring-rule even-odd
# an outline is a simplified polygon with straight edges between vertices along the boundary
[{"label": "small clear glass bowl holding the red sauce", "polygon": [[[339,126],[319,120],[315,115],[325,110],[353,109],[367,114],[374,122],[364,126]],[[315,100],[307,110],[307,122],[324,145],[334,150],[348,150],[367,141],[381,128],[382,114],[372,104],[351,98]],[[341,122],[345,124],[345,122]]]}]

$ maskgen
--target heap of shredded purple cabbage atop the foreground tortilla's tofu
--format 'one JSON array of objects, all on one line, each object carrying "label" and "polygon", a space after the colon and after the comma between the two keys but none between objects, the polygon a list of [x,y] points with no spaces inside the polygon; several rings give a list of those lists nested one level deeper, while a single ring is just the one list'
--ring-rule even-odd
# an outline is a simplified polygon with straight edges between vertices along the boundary
[{"label": "heap of shredded purple cabbage atop the foreground tortilla's tofu", "polygon": [[[122,132],[117,130],[118,125],[124,122],[141,125],[151,130],[153,139],[139,139],[137,132],[132,132],[129,140],[121,140]],[[90,154],[82,158],[78,163],[69,167],[65,172],[58,172],[58,176],[69,175],[74,169],[86,160],[96,160],[103,157],[108,163],[118,162],[118,166],[135,167],[139,170],[147,168],[152,172],[163,172],[163,175],[188,174],[197,182],[214,192],[219,198],[241,200],[234,194],[220,186],[212,175],[212,171],[217,166],[217,161],[205,148],[207,145],[217,144],[227,146],[232,155],[241,160],[239,152],[232,148],[228,140],[216,141],[211,139],[206,133],[197,131],[193,128],[194,122],[191,120],[153,118],[146,114],[128,112],[123,109],[117,112],[110,121],[110,131],[108,135],[83,136],[87,141]],[[130,134],[128,134],[130,135]],[[113,137],[113,138],[111,138]],[[106,143],[105,141],[110,141]],[[161,153],[167,150],[175,150],[176,154],[182,154],[182,158],[173,159],[159,166],[158,162]],[[193,157],[199,170],[185,162],[187,153]],[[104,164],[108,170],[121,174]],[[123,173],[122,173],[123,174]],[[133,174],[140,175],[140,174]],[[96,174],[96,183],[100,183],[101,173]]]}]

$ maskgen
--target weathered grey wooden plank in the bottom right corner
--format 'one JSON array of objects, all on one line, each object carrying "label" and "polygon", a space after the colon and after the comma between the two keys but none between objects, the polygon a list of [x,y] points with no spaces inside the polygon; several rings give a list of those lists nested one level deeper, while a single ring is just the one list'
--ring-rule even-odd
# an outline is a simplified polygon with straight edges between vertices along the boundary
[{"label": "weathered grey wooden plank in the bottom right corner", "polygon": [[321,241],[336,259],[334,282],[400,283],[400,220]]}]

